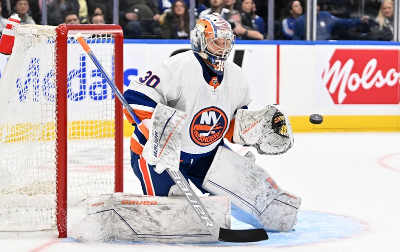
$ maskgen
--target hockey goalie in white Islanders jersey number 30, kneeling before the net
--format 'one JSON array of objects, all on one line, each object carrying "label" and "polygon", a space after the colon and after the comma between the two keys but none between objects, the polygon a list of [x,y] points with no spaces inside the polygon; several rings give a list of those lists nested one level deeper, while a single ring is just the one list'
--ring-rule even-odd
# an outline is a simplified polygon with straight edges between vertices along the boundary
[{"label": "hockey goalie in white Islanders jersey number 30, kneeling before the net", "polygon": [[[224,144],[223,138],[263,155],[279,155],[293,145],[288,116],[279,105],[247,109],[251,98],[244,73],[227,61],[234,40],[219,14],[205,15],[190,32],[191,50],[130,82],[123,97],[141,121],[131,137],[130,162],[143,195],[86,201],[86,221],[98,220],[103,239],[215,241],[166,168],[209,193],[200,199],[220,227],[229,229],[232,215],[268,232],[293,230],[300,197],[280,188],[267,167],[254,163],[253,154],[242,157]],[[76,230],[75,237],[83,233]]]}]

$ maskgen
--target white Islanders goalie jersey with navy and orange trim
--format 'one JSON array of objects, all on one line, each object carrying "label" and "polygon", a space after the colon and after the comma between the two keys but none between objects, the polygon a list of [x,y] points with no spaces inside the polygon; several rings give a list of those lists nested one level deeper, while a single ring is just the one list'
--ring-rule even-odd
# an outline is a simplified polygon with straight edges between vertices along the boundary
[{"label": "white Islanders goalie jersey with navy and orange trim", "polygon": [[[140,120],[151,118],[157,103],[184,111],[180,159],[199,158],[216,149],[233,132],[231,120],[251,101],[242,69],[225,61],[224,72],[211,77],[206,64],[191,50],[174,55],[137,79],[123,96]],[[132,120],[128,117],[128,120]],[[232,131],[232,132],[231,132]],[[136,127],[131,149],[141,154],[147,141]]]}]

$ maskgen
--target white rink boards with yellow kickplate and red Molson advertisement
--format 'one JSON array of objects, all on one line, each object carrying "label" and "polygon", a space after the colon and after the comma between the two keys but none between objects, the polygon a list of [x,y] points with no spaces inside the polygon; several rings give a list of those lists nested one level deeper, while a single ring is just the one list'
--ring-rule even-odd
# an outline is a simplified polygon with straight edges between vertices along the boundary
[{"label": "white rink boards with yellow kickplate and red Molson advertisement", "polygon": [[[237,40],[229,60],[246,74],[253,99],[249,108],[279,103],[290,115],[294,131],[399,131],[399,45]],[[125,40],[124,85],[187,49],[188,40]],[[1,73],[5,62],[1,55]],[[88,97],[85,102],[96,106],[99,101]],[[308,122],[313,113],[324,116],[322,124]],[[131,134],[131,127],[124,129],[124,135]]]}]

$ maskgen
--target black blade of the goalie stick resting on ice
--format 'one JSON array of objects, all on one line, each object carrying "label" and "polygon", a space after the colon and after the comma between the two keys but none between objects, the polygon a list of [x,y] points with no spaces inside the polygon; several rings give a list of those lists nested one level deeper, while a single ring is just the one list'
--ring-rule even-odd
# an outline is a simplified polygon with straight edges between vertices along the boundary
[{"label": "black blade of the goalie stick resting on ice", "polygon": [[268,240],[263,229],[231,230],[219,228],[219,241],[228,243],[252,243]]}]

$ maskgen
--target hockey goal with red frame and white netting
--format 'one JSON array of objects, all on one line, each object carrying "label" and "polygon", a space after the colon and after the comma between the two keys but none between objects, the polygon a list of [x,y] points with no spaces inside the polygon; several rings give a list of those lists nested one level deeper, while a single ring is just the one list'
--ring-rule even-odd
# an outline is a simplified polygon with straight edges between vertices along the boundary
[{"label": "hockey goal with red frame and white netting", "polygon": [[0,79],[0,231],[57,229],[65,238],[69,192],[123,190],[122,107],[77,32],[123,90],[119,25],[15,28]]}]

